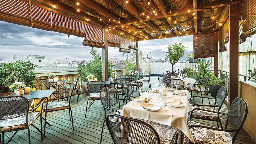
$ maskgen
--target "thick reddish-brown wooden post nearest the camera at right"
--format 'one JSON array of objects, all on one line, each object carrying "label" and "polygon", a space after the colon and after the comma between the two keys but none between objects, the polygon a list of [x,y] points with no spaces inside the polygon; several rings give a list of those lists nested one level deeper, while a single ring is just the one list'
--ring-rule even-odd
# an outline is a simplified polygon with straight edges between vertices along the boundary
[{"label": "thick reddish-brown wooden post nearest the camera at right", "polygon": [[238,97],[238,15],[239,1],[229,4],[229,107]]}]

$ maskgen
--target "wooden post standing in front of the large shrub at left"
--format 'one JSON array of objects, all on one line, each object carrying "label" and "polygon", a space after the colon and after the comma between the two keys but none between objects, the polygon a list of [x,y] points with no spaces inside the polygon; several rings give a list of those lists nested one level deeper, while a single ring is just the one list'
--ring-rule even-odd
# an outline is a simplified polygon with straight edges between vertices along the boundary
[{"label": "wooden post standing in front of the large shrub at left", "polygon": [[104,30],[104,44],[102,49],[102,81],[108,81],[108,29]]}]

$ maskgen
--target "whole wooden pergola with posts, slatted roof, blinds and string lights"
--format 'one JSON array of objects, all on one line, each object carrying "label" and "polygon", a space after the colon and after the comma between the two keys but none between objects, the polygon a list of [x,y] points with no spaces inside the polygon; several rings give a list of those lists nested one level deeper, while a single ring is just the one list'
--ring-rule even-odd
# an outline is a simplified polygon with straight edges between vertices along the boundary
[{"label": "whole wooden pergola with posts, slatted roof, blinds and string lights", "polygon": [[231,103],[238,96],[241,0],[0,0],[2,21],[84,37],[83,45],[102,48],[103,80],[108,79],[108,46],[137,49],[138,70],[138,41],[184,35],[194,35],[194,58],[214,56],[217,75],[219,31],[227,18]]}]

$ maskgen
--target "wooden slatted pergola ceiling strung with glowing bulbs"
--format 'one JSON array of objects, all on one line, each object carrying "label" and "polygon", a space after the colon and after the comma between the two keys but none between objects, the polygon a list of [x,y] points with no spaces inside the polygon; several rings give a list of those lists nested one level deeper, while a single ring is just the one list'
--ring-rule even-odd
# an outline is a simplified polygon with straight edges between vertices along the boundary
[{"label": "wooden slatted pergola ceiling strung with glowing bulbs", "polygon": [[226,20],[231,0],[32,1],[134,40],[149,40],[214,32]]}]

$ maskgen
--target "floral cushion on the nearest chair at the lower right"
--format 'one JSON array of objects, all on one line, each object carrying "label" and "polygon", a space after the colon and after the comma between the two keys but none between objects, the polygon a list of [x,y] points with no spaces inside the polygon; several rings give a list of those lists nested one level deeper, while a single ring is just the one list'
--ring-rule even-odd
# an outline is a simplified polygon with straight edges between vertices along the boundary
[{"label": "floral cushion on the nearest chair at the lower right", "polygon": [[[203,125],[194,121],[188,121],[188,126]],[[207,126],[207,125],[204,125]],[[195,144],[231,144],[232,137],[229,132],[212,130],[201,127],[190,129]]]}]

